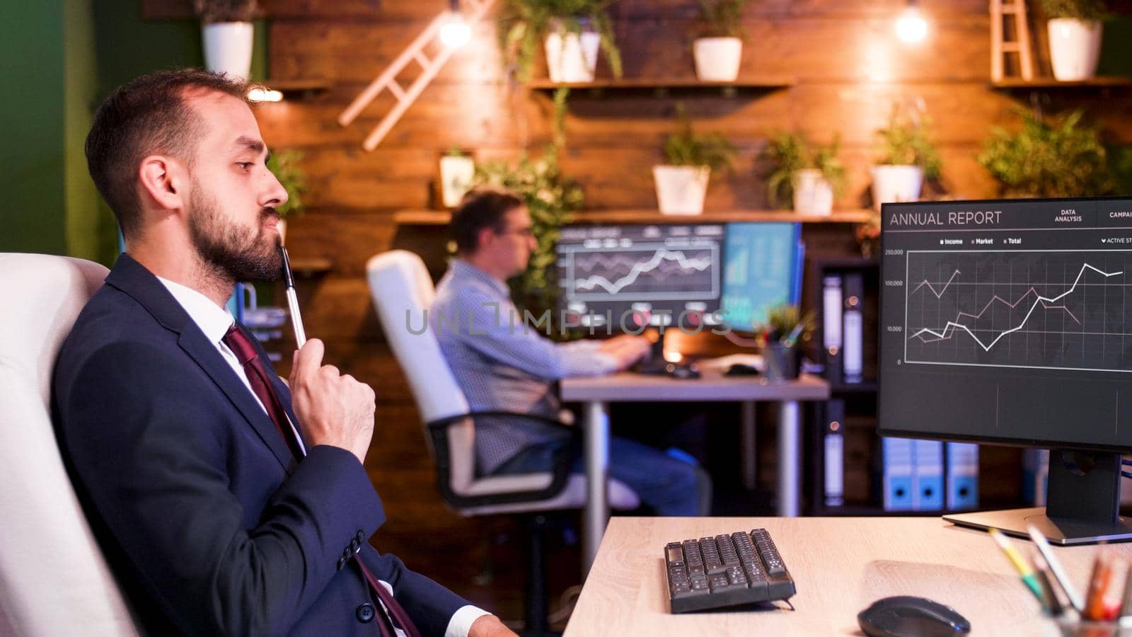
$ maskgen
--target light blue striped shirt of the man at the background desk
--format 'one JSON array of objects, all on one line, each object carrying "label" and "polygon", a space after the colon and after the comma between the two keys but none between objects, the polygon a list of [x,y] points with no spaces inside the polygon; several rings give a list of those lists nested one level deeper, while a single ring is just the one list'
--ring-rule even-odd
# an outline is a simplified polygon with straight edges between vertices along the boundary
[{"label": "light blue striped shirt of the man at the background desk", "polygon": [[[616,370],[617,360],[600,351],[598,341],[556,343],[532,329],[538,318],[524,321],[506,283],[453,260],[437,284],[428,323],[472,410],[557,417],[556,381]],[[534,421],[478,418],[478,468],[490,473],[526,447],[563,438],[561,430]]]}]

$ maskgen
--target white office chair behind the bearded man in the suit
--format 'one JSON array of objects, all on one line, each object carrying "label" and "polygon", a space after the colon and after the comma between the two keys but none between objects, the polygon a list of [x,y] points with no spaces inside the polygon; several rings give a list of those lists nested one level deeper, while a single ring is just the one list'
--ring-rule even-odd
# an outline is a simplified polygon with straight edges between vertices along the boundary
[{"label": "white office chair behind the bearded man in the suit", "polygon": [[50,416],[59,347],[105,277],[79,258],[0,254],[0,636],[138,635]]}]

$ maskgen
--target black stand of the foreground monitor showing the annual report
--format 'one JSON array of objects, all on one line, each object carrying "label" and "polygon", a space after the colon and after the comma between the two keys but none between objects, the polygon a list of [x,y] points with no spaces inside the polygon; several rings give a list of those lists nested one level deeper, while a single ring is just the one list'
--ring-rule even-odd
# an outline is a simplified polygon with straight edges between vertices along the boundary
[{"label": "black stand of the foreground monitor showing the annual report", "polygon": [[997,528],[1029,537],[1032,524],[1050,544],[1096,544],[1132,541],[1132,523],[1120,517],[1121,455],[1054,449],[1049,452],[1046,506],[943,516],[974,528]]}]

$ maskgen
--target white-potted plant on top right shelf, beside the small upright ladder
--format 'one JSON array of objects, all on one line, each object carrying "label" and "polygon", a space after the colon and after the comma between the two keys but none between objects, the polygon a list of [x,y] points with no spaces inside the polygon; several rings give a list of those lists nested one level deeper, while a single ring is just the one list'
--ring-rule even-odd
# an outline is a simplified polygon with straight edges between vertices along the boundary
[{"label": "white-potted plant on top right shelf, beside the small upright ladder", "polygon": [[1107,17],[1104,0],[1041,0],[1049,18],[1049,62],[1061,82],[1089,79],[1097,74],[1100,58],[1101,20]]}]

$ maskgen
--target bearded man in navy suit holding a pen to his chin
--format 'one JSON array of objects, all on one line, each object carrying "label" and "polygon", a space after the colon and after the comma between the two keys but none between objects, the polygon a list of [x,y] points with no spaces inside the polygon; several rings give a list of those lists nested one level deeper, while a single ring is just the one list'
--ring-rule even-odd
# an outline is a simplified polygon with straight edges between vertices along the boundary
[{"label": "bearded man in navy suit holding a pen to his chin", "polygon": [[62,347],[53,413],[111,566],[153,635],[514,635],[369,545],[372,390],[315,339],[284,384],[224,308],[281,267],[286,193],[246,92],[153,74],[87,137],[127,250]]}]

